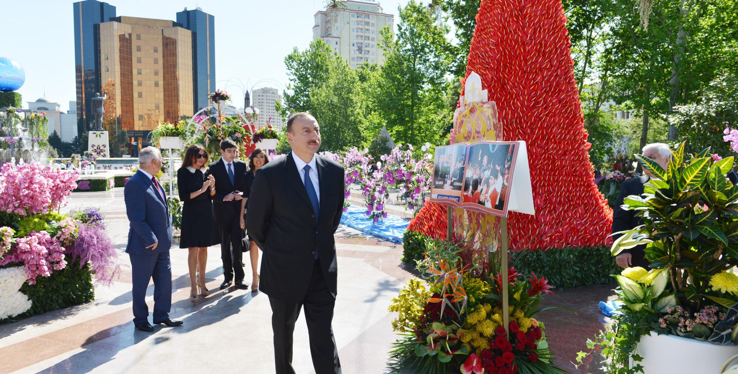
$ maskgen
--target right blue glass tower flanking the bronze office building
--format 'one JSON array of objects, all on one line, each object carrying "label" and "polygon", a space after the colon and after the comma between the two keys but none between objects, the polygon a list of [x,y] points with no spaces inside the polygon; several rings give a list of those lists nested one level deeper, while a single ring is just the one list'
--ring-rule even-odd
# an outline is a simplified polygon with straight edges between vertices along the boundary
[{"label": "right blue glass tower flanking the bronze office building", "polygon": [[177,13],[176,21],[192,31],[193,105],[199,111],[207,107],[207,95],[215,91],[215,17],[199,8],[184,8]]}]

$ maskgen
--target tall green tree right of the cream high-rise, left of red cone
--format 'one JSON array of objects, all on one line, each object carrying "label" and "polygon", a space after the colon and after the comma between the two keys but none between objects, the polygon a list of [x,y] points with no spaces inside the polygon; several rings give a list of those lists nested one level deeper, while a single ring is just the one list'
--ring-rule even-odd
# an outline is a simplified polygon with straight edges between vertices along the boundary
[{"label": "tall green tree right of the cream high-rise, left of red cone", "polygon": [[397,39],[385,27],[380,46],[384,66],[376,91],[387,131],[398,142],[437,144],[452,121],[445,103],[449,55],[445,25],[438,25],[422,4],[410,0],[400,9]]}]

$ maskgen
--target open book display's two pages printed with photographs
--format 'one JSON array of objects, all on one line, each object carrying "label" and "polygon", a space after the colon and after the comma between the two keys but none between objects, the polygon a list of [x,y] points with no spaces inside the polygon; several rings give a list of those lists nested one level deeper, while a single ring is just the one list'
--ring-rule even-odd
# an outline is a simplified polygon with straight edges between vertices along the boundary
[{"label": "open book display's two pages printed with photographs", "polygon": [[[517,142],[475,142],[435,148],[431,201],[494,215],[507,215]],[[459,155],[466,161],[453,164]],[[457,170],[461,189],[455,188]],[[448,175],[450,173],[450,176]]]}]

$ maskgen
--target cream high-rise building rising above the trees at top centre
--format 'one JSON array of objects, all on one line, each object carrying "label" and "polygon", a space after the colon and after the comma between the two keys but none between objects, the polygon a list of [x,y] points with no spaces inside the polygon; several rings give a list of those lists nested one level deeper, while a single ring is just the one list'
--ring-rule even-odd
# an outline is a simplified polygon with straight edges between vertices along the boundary
[{"label": "cream high-rise building rising above the trees at top centre", "polygon": [[385,25],[394,32],[394,15],[382,13],[382,7],[372,0],[342,4],[335,10],[315,13],[313,40],[323,39],[354,68],[365,62],[384,63],[384,53],[376,42]]}]

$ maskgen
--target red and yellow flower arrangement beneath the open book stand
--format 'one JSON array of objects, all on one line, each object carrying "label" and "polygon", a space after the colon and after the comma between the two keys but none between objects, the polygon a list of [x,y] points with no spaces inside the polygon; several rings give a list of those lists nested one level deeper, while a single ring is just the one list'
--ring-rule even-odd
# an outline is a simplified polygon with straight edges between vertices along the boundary
[{"label": "red and yellow flower arrangement beneath the open book stand", "polygon": [[[410,280],[389,311],[401,338],[390,351],[390,373],[566,373],[553,364],[543,322],[535,316],[543,277],[508,269],[500,274],[464,265],[459,243],[435,240],[418,271],[430,284]],[[495,269],[495,266],[491,266]],[[475,277],[474,274],[479,274]],[[503,327],[501,290],[508,287],[509,330]]]}]

